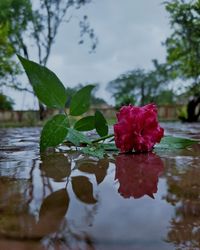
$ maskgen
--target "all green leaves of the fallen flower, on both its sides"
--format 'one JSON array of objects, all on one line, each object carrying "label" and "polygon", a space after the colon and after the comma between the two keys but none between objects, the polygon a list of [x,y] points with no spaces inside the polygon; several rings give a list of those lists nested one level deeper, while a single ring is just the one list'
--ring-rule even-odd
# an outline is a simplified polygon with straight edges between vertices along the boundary
[{"label": "all green leaves of the fallen flower, on both its sides", "polygon": [[[117,151],[113,143],[102,143],[102,141],[108,138],[113,138],[114,135],[108,135],[108,124],[100,111],[97,110],[94,116],[81,118],[75,123],[74,128],[71,128],[65,110],[66,91],[63,84],[58,80],[55,74],[47,68],[20,56],[19,59],[26,70],[37,97],[45,104],[54,107],[57,106],[65,112],[65,114],[54,116],[45,124],[40,137],[41,151],[45,151],[48,147],[56,147],[65,140],[69,141],[74,146],[86,146],[82,149],[82,152],[93,157],[102,158],[107,151]],[[69,103],[70,115],[78,116],[88,110],[93,88],[93,85],[85,86],[73,95]],[[91,141],[87,135],[80,132],[90,131],[94,128],[96,128],[100,138],[93,141]],[[161,144],[156,148],[184,148],[196,142],[197,141],[190,139],[168,136],[162,139]]]}]

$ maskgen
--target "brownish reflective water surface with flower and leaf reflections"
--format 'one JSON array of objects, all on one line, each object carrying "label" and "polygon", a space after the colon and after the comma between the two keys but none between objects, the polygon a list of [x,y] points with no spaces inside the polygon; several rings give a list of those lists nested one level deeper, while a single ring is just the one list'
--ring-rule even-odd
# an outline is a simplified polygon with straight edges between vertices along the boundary
[{"label": "brownish reflective water surface with flower and leaf reflections", "polygon": [[[163,124],[200,138],[199,124]],[[95,160],[40,156],[37,128],[0,130],[0,249],[200,249],[200,145]]]}]

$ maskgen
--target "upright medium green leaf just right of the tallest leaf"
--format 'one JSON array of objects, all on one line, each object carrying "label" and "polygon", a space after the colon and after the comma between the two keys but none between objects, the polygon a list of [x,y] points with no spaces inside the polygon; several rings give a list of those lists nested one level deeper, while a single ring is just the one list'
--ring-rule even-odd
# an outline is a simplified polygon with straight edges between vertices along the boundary
[{"label": "upright medium green leaf just right of the tallest leaf", "polygon": [[87,85],[73,95],[70,103],[70,115],[82,115],[89,109],[91,92],[94,87],[93,85]]}]

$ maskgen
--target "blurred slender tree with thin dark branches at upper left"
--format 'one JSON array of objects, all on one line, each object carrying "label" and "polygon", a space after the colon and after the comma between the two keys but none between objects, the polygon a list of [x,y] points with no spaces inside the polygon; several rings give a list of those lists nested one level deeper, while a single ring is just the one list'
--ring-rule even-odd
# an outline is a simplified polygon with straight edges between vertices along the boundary
[{"label": "blurred slender tree with thin dark branches at upper left", "polygon": [[[92,0],[5,0],[0,2],[0,30],[8,27],[8,40],[13,46],[14,51],[30,59],[33,50],[36,50],[37,61],[43,66],[51,54],[52,46],[61,23],[69,9],[79,9],[90,3]],[[92,50],[96,48],[97,38],[93,29],[90,27],[87,16],[79,22],[81,40],[88,34],[92,41]],[[5,46],[8,43],[6,41]],[[10,45],[9,45],[10,46]],[[1,49],[3,50],[3,48]],[[13,51],[13,52],[14,52]],[[9,60],[12,60],[10,55]],[[8,61],[8,60],[7,60]],[[11,61],[10,61],[11,62]],[[4,73],[6,75],[6,72]],[[20,88],[18,84],[13,84],[19,90],[29,90],[30,88]],[[42,105],[40,104],[42,110]],[[42,118],[42,117],[41,117]]]}]

